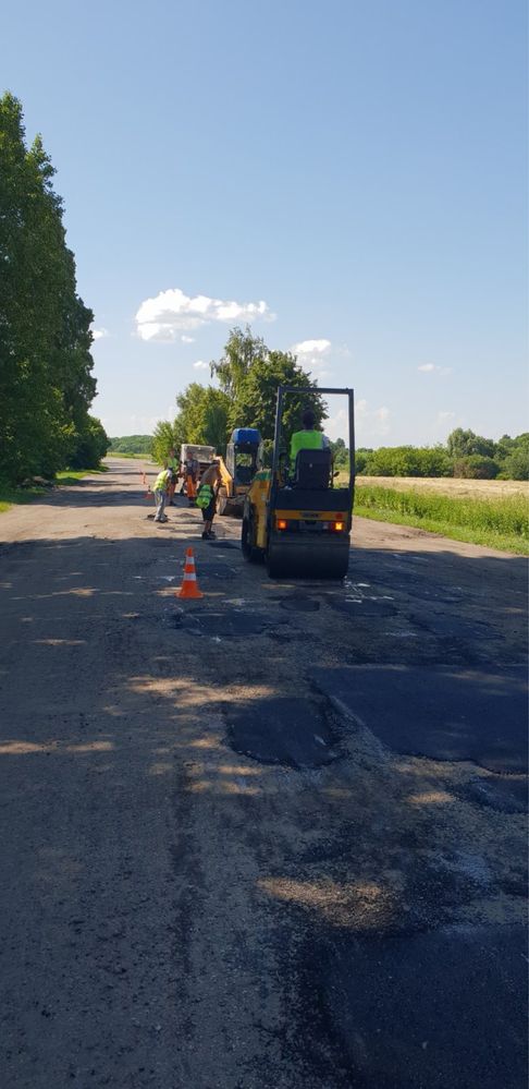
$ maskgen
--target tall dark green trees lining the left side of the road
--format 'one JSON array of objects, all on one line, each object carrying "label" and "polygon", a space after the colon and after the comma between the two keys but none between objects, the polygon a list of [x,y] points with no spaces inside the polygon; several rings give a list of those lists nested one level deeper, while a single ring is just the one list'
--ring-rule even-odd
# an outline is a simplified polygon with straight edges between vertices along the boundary
[{"label": "tall dark green trees lining the left side of the road", "polygon": [[96,395],[91,310],[77,294],[54,169],[22,105],[0,97],[0,481],[94,468],[108,448]]}]

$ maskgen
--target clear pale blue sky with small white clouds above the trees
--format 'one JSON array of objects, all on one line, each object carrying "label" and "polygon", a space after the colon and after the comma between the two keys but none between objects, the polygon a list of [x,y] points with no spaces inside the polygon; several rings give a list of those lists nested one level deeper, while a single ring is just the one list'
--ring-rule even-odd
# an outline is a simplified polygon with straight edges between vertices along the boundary
[{"label": "clear pale blue sky with small white clouds above the trees", "polygon": [[246,319],[355,388],[359,445],[528,429],[524,0],[26,0],[2,39],[109,434]]}]

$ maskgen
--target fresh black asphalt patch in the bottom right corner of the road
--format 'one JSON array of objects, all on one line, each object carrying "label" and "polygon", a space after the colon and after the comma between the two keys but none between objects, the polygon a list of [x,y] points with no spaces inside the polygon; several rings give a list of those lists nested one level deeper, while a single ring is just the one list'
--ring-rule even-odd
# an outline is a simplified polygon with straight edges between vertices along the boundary
[{"label": "fresh black asphalt patch in the bottom right corner of the road", "polygon": [[362,1089],[525,1089],[522,927],[336,932],[315,981]]}]

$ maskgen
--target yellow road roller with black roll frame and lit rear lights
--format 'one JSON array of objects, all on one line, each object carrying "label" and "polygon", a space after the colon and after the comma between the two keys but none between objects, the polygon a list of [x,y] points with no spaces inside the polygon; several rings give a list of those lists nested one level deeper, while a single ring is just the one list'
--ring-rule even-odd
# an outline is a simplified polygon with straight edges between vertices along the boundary
[{"label": "yellow road roller with black roll frame and lit rear lights", "polygon": [[349,560],[354,500],[354,392],[318,388],[347,398],[349,475],[336,484],[330,448],[300,449],[294,464],[282,441],[285,398],[315,390],[280,386],[271,469],[256,472],[244,500],[241,547],[250,562],[264,561],[271,578],[343,579]]}]

